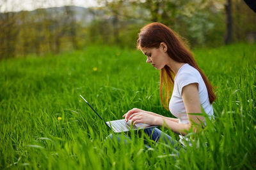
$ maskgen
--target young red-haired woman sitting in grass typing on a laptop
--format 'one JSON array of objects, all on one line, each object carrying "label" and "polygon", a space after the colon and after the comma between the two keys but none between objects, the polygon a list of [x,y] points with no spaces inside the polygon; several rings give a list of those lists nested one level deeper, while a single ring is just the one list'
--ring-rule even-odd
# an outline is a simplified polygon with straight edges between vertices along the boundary
[{"label": "young red-haired woman sitting in grass typing on a laptop", "polygon": [[[166,25],[154,22],[143,27],[139,33],[137,47],[147,56],[148,63],[161,70],[161,102],[164,108],[168,105],[171,113],[177,118],[163,117],[138,108],[129,110],[123,117],[126,122],[132,120],[132,124],[144,123],[160,127],[164,125],[179,134],[180,143],[184,145],[182,139],[186,132],[190,128],[196,132],[200,128],[196,124],[205,124],[202,115],[189,113],[202,113],[201,109],[204,109],[209,117],[213,117],[212,103],[216,96],[212,86],[197,66],[192,53],[179,36]],[[170,136],[157,128],[144,131],[154,141],[164,136],[171,143],[174,142]]]}]

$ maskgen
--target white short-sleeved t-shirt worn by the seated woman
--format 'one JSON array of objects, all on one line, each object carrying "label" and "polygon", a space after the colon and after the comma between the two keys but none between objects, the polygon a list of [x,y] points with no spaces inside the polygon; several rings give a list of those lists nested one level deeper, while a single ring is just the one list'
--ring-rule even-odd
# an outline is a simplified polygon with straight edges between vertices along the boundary
[{"label": "white short-sleeved t-shirt worn by the seated woman", "polygon": [[[169,103],[169,109],[175,117],[179,118],[179,124],[189,124],[186,108],[184,106],[181,93],[182,88],[191,83],[198,83],[200,104],[204,109],[205,113],[207,113],[207,115],[209,115],[210,118],[214,118],[212,104],[210,104],[208,91],[201,74],[197,69],[186,63],[180,67],[178,73],[174,78],[174,87],[172,97]],[[181,143],[181,139],[183,138],[184,136],[180,135]]]}]

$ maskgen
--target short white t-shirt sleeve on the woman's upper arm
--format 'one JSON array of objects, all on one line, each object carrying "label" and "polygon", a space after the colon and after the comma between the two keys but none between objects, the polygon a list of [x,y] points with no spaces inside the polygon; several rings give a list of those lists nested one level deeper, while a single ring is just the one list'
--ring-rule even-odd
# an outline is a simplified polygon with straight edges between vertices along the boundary
[{"label": "short white t-shirt sleeve on the woman's upper arm", "polygon": [[191,83],[198,83],[198,85],[199,85],[199,80],[198,80],[198,76],[196,75],[196,73],[193,73],[193,72],[181,73],[179,75],[179,78],[177,79],[177,83],[178,83],[179,94],[181,96],[183,87],[185,87],[186,85],[189,85]]}]

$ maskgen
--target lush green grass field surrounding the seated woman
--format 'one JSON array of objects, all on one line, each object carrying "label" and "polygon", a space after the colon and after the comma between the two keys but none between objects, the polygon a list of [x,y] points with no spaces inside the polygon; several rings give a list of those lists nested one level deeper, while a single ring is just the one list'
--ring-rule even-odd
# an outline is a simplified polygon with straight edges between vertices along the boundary
[{"label": "lush green grass field surrounding the seated woman", "polygon": [[216,87],[216,118],[179,156],[163,143],[145,148],[134,133],[127,144],[105,140],[110,131],[79,97],[105,120],[134,107],[172,117],[161,105],[159,71],[141,52],[89,46],[0,60],[0,169],[255,169],[255,49],[193,51]]}]

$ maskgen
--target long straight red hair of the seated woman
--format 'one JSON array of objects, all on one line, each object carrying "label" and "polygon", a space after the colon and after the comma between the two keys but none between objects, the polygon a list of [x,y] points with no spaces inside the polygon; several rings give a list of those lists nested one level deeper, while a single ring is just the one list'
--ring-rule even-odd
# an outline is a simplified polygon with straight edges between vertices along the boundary
[{"label": "long straight red hair of the seated woman", "polygon": [[[169,57],[177,62],[188,63],[190,66],[195,67],[195,69],[199,71],[206,85],[209,101],[212,104],[216,100],[216,95],[212,90],[211,83],[203,71],[201,71],[201,69],[196,64],[192,53],[185,45],[184,41],[182,41],[179,35],[176,34],[172,29],[159,22],[153,22],[151,24],[145,25],[145,27],[143,27],[138,34],[137,48],[159,48],[160,43],[162,42],[166,43],[168,47],[167,53]],[[163,69],[161,69],[160,97],[161,102],[166,110],[168,110],[166,106],[168,106],[170,94],[173,90],[174,77],[175,73],[172,71],[172,69],[170,69],[170,67],[164,66]]]}]

